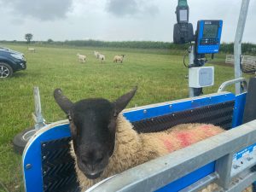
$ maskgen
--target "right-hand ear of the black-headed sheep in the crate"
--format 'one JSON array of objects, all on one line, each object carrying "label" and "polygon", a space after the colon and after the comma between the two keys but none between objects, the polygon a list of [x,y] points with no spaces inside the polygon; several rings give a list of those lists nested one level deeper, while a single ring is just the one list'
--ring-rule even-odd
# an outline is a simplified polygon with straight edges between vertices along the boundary
[{"label": "right-hand ear of the black-headed sheep in the crate", "polygon": [[131,101],[132,97],[135,95],[136,91],[137,86],[133,88],[130,92],[126,93],[123,96],[120,96],[115,102],[113,102],[115,109],[114,115],[119,114],[127,106],[127,104]]}]

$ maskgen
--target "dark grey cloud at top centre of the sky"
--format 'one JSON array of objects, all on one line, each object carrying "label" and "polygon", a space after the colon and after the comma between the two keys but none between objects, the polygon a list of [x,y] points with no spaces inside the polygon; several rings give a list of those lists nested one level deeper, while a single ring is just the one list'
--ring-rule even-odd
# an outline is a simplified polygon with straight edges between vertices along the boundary
[{"label": "dark grey cloud at top centre of the sky", "polygon": [[115,16],[156,15],[159,8],[150,0],[108,0],[106,9]]}]

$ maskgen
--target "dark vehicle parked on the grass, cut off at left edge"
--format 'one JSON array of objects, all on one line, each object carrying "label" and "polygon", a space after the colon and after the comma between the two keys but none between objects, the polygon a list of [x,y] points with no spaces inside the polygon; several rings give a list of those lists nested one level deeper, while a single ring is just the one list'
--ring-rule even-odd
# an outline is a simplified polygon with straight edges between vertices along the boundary
[{"label": "dark vehicle parked on the grass, cut off at left edge", "polygon": [[26,69],[26,59],[18,51],[0,47],[0,79],[9,78],[14,72]]}]

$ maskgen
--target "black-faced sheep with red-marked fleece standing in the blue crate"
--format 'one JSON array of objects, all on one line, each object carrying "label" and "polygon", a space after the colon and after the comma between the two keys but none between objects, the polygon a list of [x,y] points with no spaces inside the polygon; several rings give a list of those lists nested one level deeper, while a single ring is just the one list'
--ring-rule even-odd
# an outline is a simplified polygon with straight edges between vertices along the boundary
[{"label": "black-faced sheep with red-marked fleece standing in the blue crate", "polygon": [[[120,113],[136,90],[114,102],[93,98],[75,103],[63,96],[60,89],[54,91],[55,101],[70,122],[70,150],[83,191],[106,177],[224,131],[214,125],[183,124],[166,131],[138,134]],[[215,186],[210,184],[204,191]]]}]

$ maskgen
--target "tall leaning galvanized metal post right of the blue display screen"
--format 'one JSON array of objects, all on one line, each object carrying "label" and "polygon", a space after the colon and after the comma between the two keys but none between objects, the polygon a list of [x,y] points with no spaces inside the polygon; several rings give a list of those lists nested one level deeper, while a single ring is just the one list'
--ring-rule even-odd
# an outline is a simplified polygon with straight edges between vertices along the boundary
[{"label": "tall leaning galvanized metal post right of the blue display screen", "polygon": [[[236,38],[234,43],[234,57],[235,57],[235,79],[241,78],[240,56],[241,56],[241,39],[247,20],[247,11],[250,0],[242,0],[240,15],[236,27]],[[241,83],[236,84],[236,95],[241,93]]]}]

